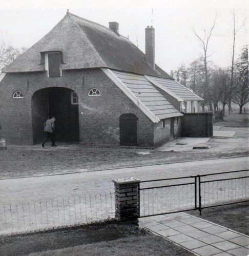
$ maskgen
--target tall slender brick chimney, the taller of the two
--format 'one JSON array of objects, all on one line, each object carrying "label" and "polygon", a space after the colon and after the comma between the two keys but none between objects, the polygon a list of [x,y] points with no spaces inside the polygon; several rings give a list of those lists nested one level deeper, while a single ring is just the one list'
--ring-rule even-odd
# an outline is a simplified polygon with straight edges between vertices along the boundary
[{"label": "tall slender brick chimney, the taller of the two", "polygon": [[155,29],[146,28],[146,61],[155,69]]}]

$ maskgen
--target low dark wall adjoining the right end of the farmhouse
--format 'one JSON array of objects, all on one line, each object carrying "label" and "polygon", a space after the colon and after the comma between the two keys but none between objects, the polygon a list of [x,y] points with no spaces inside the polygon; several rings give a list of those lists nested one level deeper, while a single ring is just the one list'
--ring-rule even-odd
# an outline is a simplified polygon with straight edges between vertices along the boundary
[{"label": "low dark wall adjoining the right end of the farmhouse", "polygon": [[213,112],[184,113],[181,135],[186,137],[212,137]]}]

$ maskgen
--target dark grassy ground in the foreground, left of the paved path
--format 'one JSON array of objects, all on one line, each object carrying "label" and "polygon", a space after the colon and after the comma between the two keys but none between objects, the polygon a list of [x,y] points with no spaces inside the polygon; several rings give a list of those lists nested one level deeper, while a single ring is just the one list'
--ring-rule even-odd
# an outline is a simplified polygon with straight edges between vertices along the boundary
[{"label": "dark grassy ground in the foreground, left of the paved path", "polygon": [[[25,246],[23,246],[25,244]],[[0,237],[1,255],[192,255],[134,225],[97,224]]]}]

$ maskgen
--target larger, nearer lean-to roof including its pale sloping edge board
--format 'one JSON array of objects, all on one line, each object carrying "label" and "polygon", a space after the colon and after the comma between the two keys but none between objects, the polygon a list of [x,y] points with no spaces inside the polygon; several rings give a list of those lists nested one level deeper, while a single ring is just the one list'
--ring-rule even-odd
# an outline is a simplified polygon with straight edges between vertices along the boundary
[{"label": "larger, nearer lean-to roof including its pale sloping edge board", "polygon": [[182,115],[144,75],[102,70],[154,123]]}]

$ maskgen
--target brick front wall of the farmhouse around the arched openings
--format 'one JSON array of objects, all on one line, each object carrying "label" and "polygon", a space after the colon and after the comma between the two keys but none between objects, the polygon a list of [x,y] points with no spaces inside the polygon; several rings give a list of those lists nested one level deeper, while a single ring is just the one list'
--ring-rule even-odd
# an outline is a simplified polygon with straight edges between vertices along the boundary
[{"label": "brick front wall of the farmhouse around the arched openings", "polygon": [[[119,116],[133,113],[138,117],[138,144],[154,146],[154,124],[99,69],[63,71],[63,76],[56,78],[48,78],[46,72],[8,73],[0,83],[0,125],[7,142],[33,144],[32,95],[49,87],[65,87],[77,93],[80,143],[119,145]],[[101,96],[88,96],[92,88],[99,89]],[[23,92],[24,99],[12,98],[16,90]]]}]

